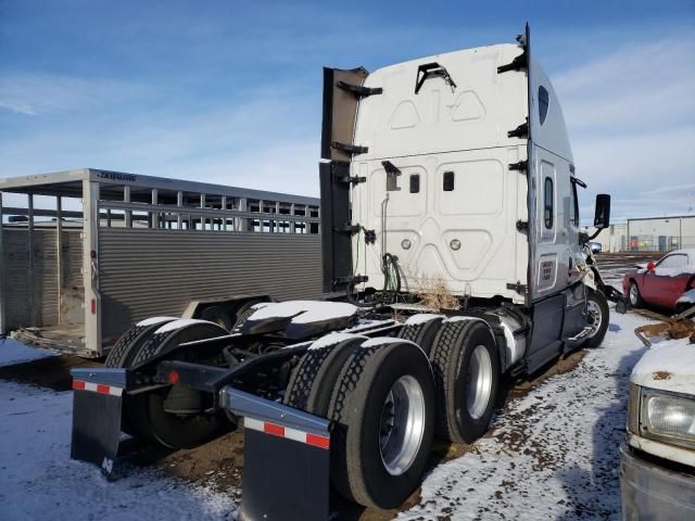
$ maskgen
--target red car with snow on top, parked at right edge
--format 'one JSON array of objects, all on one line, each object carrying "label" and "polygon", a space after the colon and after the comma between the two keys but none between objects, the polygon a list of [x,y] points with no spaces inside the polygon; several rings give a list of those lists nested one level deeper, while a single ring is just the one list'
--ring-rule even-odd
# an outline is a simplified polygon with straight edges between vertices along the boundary
[{"label": "red car with snow on top, parked at right edge", "polygon": [[677,250],[636,268],[622,279],[623,292],[635,307],[646,303],[675,308],[679,297],[695,289],[695,249]]}]

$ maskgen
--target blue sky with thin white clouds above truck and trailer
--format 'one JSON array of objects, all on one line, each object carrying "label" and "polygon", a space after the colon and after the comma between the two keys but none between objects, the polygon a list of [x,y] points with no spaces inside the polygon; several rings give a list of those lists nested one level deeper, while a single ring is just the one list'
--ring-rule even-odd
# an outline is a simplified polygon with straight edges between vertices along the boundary
[{"label": "blue sky with thin white clouds above truck and trailer", "polygon": [[0,0],[0,177],[83,166],[318,194],[321,67],[514,41],[616,218],[695,213],[695,1]]}]

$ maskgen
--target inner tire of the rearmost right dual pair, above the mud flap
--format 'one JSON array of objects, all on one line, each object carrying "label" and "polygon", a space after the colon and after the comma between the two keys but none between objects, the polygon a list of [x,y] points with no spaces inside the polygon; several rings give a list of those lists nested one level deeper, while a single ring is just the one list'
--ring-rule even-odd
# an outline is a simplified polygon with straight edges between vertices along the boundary
[{"label": "inner tire of the rearmost right dual pair, above the mud flap", "polygon": [[313,415],[326,416],[333,385],[345,360],[366,340],[367,336],[355,335],[317,348],[309,347],[292,371],[285,404]]}]

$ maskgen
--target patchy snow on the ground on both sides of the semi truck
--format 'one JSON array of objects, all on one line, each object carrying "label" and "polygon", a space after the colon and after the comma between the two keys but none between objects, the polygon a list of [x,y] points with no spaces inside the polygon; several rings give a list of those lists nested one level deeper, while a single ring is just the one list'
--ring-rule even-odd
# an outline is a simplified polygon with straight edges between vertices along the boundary
[{"label": "patchy snow on the ground on both sides of the semi truck", "polygon": [[[632,330],[645,322],[612,313],[602,347],[511,401],[489,436],[427,476],[420,504],[399,519],[617,519],[628,381],[645,350]],[[0,380],[0,519],[232,518],[231,494],[153,468],[108,482],[71,460],[72,393]]]}]

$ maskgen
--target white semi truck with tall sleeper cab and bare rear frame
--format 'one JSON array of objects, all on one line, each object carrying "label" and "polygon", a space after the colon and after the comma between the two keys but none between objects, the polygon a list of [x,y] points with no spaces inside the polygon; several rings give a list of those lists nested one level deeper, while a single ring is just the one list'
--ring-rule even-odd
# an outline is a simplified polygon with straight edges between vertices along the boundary
[{"label": "white semi truck with tall sleeper cab and bare rear frame", "polygon": [[[175,449],[243,424],[243,519],[328,519],[331,490],[394,508],[434,436],[485,432],[502,374],[599,345],[624,301],[580,233],[585,185],[528,27],[517,40],[326,68],[326,298],[257,304],[231,332],[137,323],[105,369],[73,370],[73,457],[111,472],[122,432]],[[453,308],[419,303],[422,280]]]}]

